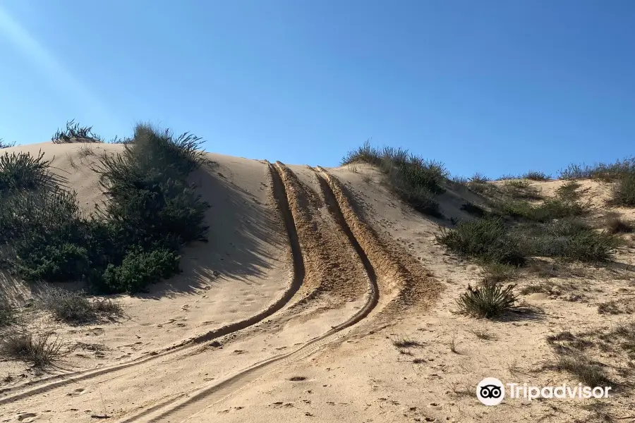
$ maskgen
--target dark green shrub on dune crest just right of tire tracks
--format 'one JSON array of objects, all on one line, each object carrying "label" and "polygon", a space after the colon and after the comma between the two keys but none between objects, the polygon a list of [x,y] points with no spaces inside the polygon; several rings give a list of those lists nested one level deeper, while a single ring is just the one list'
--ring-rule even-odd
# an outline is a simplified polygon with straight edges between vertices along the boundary
[{"label": "dark green shrub on dune crest just right of tire tracks", "polygon": [[365,142],[346,154],[344,164],[370,163],[388,176],[389,183],[402,200],[418,212],[440,216],[434,195],[444,192],[449,173],[442,164],[409,154],[400,148],[377,149]]}]

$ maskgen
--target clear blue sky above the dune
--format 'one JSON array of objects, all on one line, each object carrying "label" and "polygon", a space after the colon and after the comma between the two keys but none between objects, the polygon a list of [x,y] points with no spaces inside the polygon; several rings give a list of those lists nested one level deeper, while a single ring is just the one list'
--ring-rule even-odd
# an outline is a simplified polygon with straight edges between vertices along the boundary
[{"label": "clear blue sky above the dune", "polygon": [[0,137],[137,121],[336,166],[404,147],[488,176],[635,154],[635,2],[0,0]]}]

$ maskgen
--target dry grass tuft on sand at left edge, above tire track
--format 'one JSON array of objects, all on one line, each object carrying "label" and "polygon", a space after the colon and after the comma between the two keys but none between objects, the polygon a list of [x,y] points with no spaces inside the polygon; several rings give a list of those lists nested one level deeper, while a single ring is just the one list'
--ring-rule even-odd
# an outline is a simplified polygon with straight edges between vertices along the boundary
[{"label": "dry grass tuft on sand at left edge, above tire track", "polygon": [[59,338],[52,338],[50,333],[34,334],[16,329],[4,333],[0,340],[0,355],[43,367],[60,357],[61,347]]}]

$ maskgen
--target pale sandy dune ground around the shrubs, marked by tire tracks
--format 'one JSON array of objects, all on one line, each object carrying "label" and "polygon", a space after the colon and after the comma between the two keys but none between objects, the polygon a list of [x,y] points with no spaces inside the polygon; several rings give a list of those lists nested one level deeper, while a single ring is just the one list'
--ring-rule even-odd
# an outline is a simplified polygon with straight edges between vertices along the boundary
[{"label": "pale sandy dune ground around the shrubs, marked by tire tracks", "polygon": [[[87,209],[99,201],[95,173],[71,166],[78,145],[28,148],[55,154],[56,172]],[[52,370],[62,376],[33,376],[0,362],[0,372],[25,374],[2,383],[1,421],[587,421],[582,405],[593,400],[485,407],[473,392],[485,376],[577,384],[545,368],[554,357],[545,336],[632,321],[597,309],[635,295],[629,245],[615,265],[550,276],[562,292],[526,295],[540,311],[531,318],[468,319],[453,313],[454,300],[480,269],[437,245],[439,225],[447,223],[401,204],[370,166],[210,158],[217,164],[193,177],[214,206],[210,243],[189,247],[183,274],[150,294],[121,296],[126,319],[75,328],[47,322],[69,343],[107,346],[104,357],[69,355]],[[560,183],[537,186],[550,195]],[[584,185],[600,218],[610,187]],[[444,214],[469,218],[459,207],[473,200],[470,192],[440,200]],[[530,275],[518,283],[537,281]],[[479,340],[476,329],[495,338]],[[402,338],[418,346],[397,350],[392,341]],[[169,349],[174,345],[182,346]],[[608,354],[595,358],[615,364]],[[635,421],[629,391],[611,398],[610,410],[619,421]]]}]

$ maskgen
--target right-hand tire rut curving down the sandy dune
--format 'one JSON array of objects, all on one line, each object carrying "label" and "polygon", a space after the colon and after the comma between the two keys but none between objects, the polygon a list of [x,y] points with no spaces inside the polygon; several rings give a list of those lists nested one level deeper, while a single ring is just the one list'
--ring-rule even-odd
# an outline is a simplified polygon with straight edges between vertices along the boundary
[{"label": "right-hand tire rut curving down the sandy dune", "polygon": [[[289,184],[290,179],[296,178],[291,170],[289,170],[289,168],[284,166],[284,164],[280,163],[279,161],[276,162],[274,168],[279,173],[279,177],[285,184]],[[276,355],[274,357],[267,358],[266,360],[257,362],[246,369],[236,372],[236,374],[233,374],[222,381],[217,381],[214,384],[210,384],[208,386],[200,388],[198,391],[195,391],[190,395],[188,395],[188,393],[181,393],[179,394],[179,396],[170,398],[169,400],[164,400],[162,403],[159,403],[154,407],[144,410],[140,414],[126,417],[126,419],[120,420],[119,423],[183,422],[186,419],[195,416],[196,414],[198,414],[198,412],[205,410],[205,408],[210,407],[211,405],[214,405],[219,401],[222,401],[223,398],[231,395],[244,386],[248,386],[248,384],[253,383],[265,374],[274,371],[275,368],[289,362],[301,360],[303,357],[314,353],[316,350],[320,349],[322,345],[334,341],[333,338],[337,335],[337,333],[357,324],[359,321],[367,317],[370,312],[373,311],[380,298],[380,290],[377,286],[377,276],[373,264],[371,264],[365,251],[363,250],[363,247],[360,245],[360,243],[358,243],[355,235],[353,235],[353,231],[351,231],[349,223],[346,221],[344,214],[339,208],[339,203],[337,202],[334,193],[330,189],[329,184],[319,174],[316,173],[316,175],[320,182],[322,195],[324,195],[325,197],[325,202],[330,214],[332,214],[334,221],[346,234],[346,238],[348,238],[349,243],[351,243],[351,245],[353,246],[356,255],[361,260],[365,269],[365,273],[368,278],[368,290],[367,298],[363,307],[361,307],[358,312],[353,314],[353,316],[349,317],[349,319],[346,319],[346,321],[338,324],[337,326],[333,326],[332,329],[330,329],[326,333],[311,339],[310,341],[304,343],[303,345],[290,351],[289,353]],[[294,190],[289,189],[289,187],[287,186],[286,192],[288,194],[291,194],[292,192],[294,192]],[[289,202],[296,202],[298,200],[301,199],[290,198]]]}]

